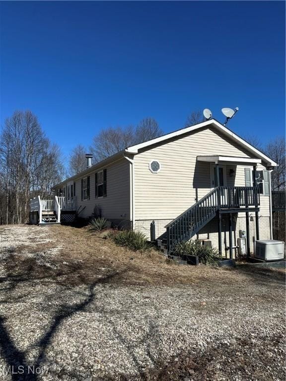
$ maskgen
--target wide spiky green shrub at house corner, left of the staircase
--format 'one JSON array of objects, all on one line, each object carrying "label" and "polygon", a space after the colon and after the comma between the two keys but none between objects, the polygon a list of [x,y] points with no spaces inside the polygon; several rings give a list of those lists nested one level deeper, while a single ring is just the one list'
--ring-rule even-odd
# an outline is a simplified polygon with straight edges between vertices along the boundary
[{"label": "wide spiky green shrub at house corner, left of the staircase", "polygon": [[126,246],[134,251],[144,252],[150,248],[145,235],[134,230],[122,230],[113,235],[113,240],[116,245]]}]

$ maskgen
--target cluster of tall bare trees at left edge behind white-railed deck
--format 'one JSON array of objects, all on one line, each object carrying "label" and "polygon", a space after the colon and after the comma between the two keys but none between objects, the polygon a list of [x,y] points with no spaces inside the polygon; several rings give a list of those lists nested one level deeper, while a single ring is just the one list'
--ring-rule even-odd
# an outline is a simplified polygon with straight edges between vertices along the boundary
[{"label": "cluster of tall bare trees at left edge behind white-railed deck", "polygon": [[16,111],[5,120],[0,142],[1,223],[26,222],[30,197],[35,191],[50,194],[61,179],[60,149],[30,111]]}]

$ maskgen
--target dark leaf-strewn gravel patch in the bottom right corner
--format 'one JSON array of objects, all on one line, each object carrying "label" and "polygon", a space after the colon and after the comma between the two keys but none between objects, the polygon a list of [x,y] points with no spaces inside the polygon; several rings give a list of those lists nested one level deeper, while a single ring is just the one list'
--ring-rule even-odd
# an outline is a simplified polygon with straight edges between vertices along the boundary
[{"label": "dark leaf-strewn gravel patch in the bottom right corner", "polygon": [[[285,380],[285,353],[277,364],[277,347],[284,348],[285,335],[261,335],[256,340],[236,338],[229,343],[215,340],[201,353],[181,352],[167,364],[161,359],[143,375],[118,375],[120,381],[216,381]],[[285,352],[285,348],[284,348]],[[269,367],[271,365],[271,367]],[[112,381],[112,376],[108,379]]]}]

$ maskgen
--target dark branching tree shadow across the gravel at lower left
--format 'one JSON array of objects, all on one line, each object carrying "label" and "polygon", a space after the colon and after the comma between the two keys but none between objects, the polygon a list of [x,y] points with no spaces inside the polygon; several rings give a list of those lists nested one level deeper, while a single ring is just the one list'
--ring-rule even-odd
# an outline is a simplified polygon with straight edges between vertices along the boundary
[{"label": "dark branching tree shadow across the gravel at lower left", "polygon": [[[57,332],[60,324],[64,320],[71,318],[72,315],[84,311],[87,306],[89,306],[94,301],[96,297],[97,285],[111,282],[116,283],[126,270],[121,272],[111,271],[105,276],[98,277],[91,283],[88,283],[88,281],[83,276],[76,272],[75,268],[70,269],[65,267],[64,269],[55,272],[52,269],[43,268],[44,266],[37,265],[34,260],[24,261],[22,262],[22,266],[17,266],[15,261],[13,261],[14,259],[9,258],[5,260],[4,263],[7,269],[7,275],[0,278],[0,284],[4,285],[8,283],[8,286],[1,288],[1,291],[4,291],[6,294],[6,298],[1,300],[1,303],[17,303],[19,297],[17,296],[13,300],[12,293],[19,285],[25,282],[40,281],[44,284],[53,283],[61,286],[64,285],[67,288],[71,288],[71,286],[75,285],[86,286],[85,294],[87,295],[85,295],[85,298],[82,302],[76,303],[74,305],[64,303],[57,309],[57,312],[52,318],[50,327],[36,344],[36,348],[39,350],[39,354],[33,363],[28,361],[26,351],[18,349],[15,345],[15,342],[6,326],[7,318],[0,316],[0,349],[1,356],[5,359],[7,364],[6,370],[8,370],[8,374],[11,376],[13,381],[36,381],[38,380],[38,375],[34,372],[36,368],[40,368],[41,363],[45,358],[46,349],[51,343],[51,340],[54,334]],[[71,284],[67,282],[66,276],[68,276],[68,279],[69,277],[74,278]],[[63,277],[65,277],[65,279],[62,279]],[[76,375],[76,372],[72,373]]]}]

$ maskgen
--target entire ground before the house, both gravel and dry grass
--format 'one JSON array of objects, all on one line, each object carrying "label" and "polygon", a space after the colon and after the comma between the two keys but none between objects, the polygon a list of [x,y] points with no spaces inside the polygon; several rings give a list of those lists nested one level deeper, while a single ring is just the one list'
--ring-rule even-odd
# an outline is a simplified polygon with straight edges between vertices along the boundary
[{"label": "entire ground before the house, both gravel and dry grass", "polygon": [[[0,227],[0,284],[0,365],[49,368],[4,380],[285,379],[284,270],[177,265],[156,250],[117,247],[88,228],[21,225]],[[95,318],[97,289],[105,295],[97,308],[113,306],[112,321],[107,312],[105,321]],[[155,333],[143,339],[151,318]],[[69,332],[82,319],[90,329],[85,341],[79,328]],[[110,348],[106,319],[116,330]],[[91,346],[100,354],[79,361]],[[83,368],[76,374],[68,369],[75,363]]]}]

